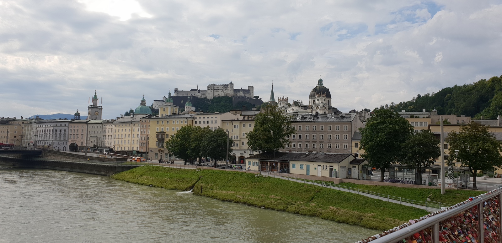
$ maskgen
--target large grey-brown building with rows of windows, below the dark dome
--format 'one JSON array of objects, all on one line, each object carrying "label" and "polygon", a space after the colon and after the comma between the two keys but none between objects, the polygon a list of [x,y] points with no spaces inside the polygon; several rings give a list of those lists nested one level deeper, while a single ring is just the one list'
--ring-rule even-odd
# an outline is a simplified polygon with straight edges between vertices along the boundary
[{"label": "large grey-brown building with rows of windows, below the dark dome", "polygon": [[292,124],[296,133],[281,151],[352,153],[352,137],[363,126],[357,113],[301,114]]}]

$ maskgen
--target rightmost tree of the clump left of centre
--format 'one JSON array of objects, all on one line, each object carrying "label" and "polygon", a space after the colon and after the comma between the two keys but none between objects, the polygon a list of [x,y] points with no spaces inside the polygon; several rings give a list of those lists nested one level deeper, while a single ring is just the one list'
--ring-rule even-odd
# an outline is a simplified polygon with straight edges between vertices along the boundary
[{"label": "rightmost tree of the clump left of centre", "polygon": [[226,159],[227,139],[230,139],[228,141],[228,152],[231,153],[233,139],[228,138],[228,134],[223,128],[217,128],[209,132],[200,144],[200,154],[214,158],[214,164],[216,165],[216,160]]}]

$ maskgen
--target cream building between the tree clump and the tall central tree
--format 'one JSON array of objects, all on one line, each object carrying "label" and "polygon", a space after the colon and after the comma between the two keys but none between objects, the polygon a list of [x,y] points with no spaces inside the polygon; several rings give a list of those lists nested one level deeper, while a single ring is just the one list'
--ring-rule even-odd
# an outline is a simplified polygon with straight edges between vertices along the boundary
[{"label": "cream building between the tree clump and the tall central tree", "polygon": [[232,155],[235,155],[236,163],[243,164],[244,158],[258,153],[247,146],[247,133],[255,127],[255,120],[230,119],[222,120],[221,124],[221,128],[233,139]]}]

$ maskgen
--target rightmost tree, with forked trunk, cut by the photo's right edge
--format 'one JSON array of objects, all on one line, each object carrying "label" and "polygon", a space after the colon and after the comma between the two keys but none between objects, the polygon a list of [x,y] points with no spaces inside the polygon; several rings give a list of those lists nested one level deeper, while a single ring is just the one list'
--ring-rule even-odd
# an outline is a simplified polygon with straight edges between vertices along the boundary
[{"label": "rightmost tree, with forked trunk, cut by the photo's right edge", "polygon": [[474,189],[476,187],[476,173],[478,170],[493,170],[502,166],[501,143],[488,131],[488,127],[469,122],[460,127],[460,131],[448,133],[446,142],[449,144],[448,161],[455,159],[455,150],[459,150],[457,161],[461,166],[469,167],[472,173]]}]

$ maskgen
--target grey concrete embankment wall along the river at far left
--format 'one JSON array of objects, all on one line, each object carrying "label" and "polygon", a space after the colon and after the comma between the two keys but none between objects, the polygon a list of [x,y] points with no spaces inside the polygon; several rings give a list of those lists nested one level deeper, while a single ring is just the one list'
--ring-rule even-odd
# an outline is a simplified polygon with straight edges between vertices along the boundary
[{"label": "grey concrete embankment wall along the river at far left", "polygon": [[139,165],[124,165],[124,164],[105,164],[105,163],[86,163],[86,162],[69,162],[69,161],[53,161],[53,160],[29,160],[24,158],[7,158],[0,157],[0,164],[29,167],[29,168],[47,168],[65,170],[79,173],[111,175],[117,172],[126,171]]}]

